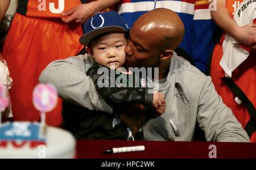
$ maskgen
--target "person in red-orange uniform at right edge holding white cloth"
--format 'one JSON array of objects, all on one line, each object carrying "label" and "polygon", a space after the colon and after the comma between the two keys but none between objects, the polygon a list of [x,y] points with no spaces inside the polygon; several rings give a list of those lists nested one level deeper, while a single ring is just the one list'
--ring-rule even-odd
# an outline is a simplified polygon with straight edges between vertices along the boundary
[{"label": "person in red-orange uniform at right edge holding white cloth", "polygon": [[250,141],[256,142],[256,2],[217,0],[216,4],[211,15],[224,34],[214,48],[210,76]]}]

